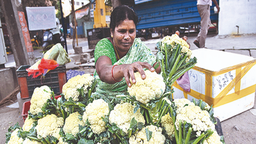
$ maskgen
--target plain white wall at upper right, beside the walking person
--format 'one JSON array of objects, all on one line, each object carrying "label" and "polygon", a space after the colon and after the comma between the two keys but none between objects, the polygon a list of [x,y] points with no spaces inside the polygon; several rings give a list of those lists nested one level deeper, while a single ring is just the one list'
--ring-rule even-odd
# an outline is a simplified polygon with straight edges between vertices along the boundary
[{"label": "plain white wall at upper right, beside the walking person", "polygon": [[255,0],[220,0],[219,35],[256,33]]}]

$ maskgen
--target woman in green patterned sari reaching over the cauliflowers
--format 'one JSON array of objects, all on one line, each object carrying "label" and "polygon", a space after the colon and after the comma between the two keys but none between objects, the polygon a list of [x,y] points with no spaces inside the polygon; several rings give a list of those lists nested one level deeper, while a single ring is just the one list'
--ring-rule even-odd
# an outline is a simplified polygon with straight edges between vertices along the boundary
[{"label": "woman in green patterned sari reaching over the cauliflowers", "polygon": [[[94,76],[98,82],[95,94],[126,94],[131,81],[136,83],[134,72],[140,72],[145,79],[143,68],[155,71],[156,56],[136,38],[137,23],[137,15],[128,6],[118,6],[111,13],[111,38],[103,38],[95,47]],[[156,72],[161,72],[160,67]]]}]

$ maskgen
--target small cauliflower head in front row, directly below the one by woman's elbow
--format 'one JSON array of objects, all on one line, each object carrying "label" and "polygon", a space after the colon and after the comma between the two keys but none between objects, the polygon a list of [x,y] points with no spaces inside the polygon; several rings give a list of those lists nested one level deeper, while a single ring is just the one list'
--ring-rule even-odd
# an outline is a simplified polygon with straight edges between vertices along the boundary
[{"label": "small cauliflower head in front row, directly below the one by woman's elbow", "polygon": [[71,113],[65,120],[65,125],[63,126],[63,131],[65,134],[72,134],[76,136],[79,132],[79,125],[84,126],[83,120],[79,120],[78,116],[80,114],[78,112]]}]

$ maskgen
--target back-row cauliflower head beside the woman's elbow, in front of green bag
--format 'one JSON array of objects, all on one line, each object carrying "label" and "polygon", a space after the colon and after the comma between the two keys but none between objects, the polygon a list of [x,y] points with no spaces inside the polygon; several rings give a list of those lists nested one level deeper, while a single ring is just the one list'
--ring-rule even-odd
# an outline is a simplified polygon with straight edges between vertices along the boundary
[{"label": "back-row cauliflower head beside the woman's elbow, in front of green bag", "polygon": [[77,89],[83,88],[84,93],[87,93],[87,88],[92,86],[94,77],[90,74],[83,74],[83,76],[77,75],[68,80],[67,83],[63,85],[62,93],[65,95],[65,99],[72,97],[74,101],[79,100],[79,92]]}]

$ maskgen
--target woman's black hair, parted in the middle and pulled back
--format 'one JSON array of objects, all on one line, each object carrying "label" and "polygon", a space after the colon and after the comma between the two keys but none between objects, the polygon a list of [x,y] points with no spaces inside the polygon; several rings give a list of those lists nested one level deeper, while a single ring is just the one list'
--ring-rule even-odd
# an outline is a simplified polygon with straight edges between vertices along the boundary
[{"label": "woman's black hair, parted in the middle and pulled back", "polygon": [[117,6],[110,16],[110,28],[114,31],[114,29],[121,24],[125,19],[133,20],[135,26],[138,24],[138,16],[129,8],[129,6],[121,5]]}]

